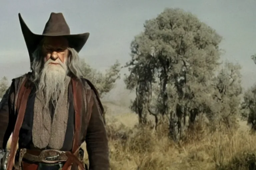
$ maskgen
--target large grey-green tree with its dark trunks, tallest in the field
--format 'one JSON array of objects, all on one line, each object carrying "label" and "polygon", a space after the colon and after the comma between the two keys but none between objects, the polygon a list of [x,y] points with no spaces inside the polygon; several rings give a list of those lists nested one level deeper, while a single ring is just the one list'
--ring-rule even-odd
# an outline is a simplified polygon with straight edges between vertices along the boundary
[{"label": "large grey-green tree with its dark trunks, tallest in the field", "polygon": [[[175,128],[181,132],[186,111],[193,121],[199,107],[195,101],[208,94],[208,80],[220,65],[221,40],[214,29],[181,9],[166,8],[147,20],[144,32],[131,43],[131,60],[126,64],[130,72],[125,78],[127,88],[140,91],[135,100],[141,102],[134,102],[140,103],[135,109],[139,118],[145,119],[147,113],[167,115],[170,133]],[[158,94],[156,102],[149,104],[152,84],[157,84]]]}]

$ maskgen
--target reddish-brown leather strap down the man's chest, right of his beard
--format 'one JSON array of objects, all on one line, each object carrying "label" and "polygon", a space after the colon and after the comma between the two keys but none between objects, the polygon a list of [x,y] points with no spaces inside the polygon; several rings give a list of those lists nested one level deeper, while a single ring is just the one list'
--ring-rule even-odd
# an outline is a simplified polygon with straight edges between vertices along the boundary
[{"label": "reddish-brown leather strap down the man's chest, right of his beard", "polygon": [[[84,170],[84,166],[81,161],[77,158],[79,151],[79,136],[80,136],[80,128],[81,128],[81,109],[82,109],[82,84],[77,79],[72,78],[72,89],[73,89],[73,97],[74,97],[74,110],[75,110],[75,133],[73,139],[73,147],[72,153],[66,152],[68,159],[66,163],[63,165],[62,170],[68,170],[69,166],[72,163],[77,164]],[[78,87],[78,88],[77,88]]]}]

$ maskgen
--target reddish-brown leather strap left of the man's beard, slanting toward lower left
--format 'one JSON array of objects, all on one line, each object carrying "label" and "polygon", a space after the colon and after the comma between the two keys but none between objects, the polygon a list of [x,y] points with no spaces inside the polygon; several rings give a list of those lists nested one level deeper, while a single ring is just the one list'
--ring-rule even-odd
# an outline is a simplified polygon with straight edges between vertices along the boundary
[{"label": "reddish-brown leather strap left of the man's beard, slanting toward lower left", "polygon": [[19,138],[19,131],[21,128],[21,125],[23,123],[28,96],[31,92],[31,87],[28,88],[25,87],[25,83],[27,82],[27,78],[22,82],[20,92],[18,94],[18,101],[17,101],[17,119],[13,130],[13,136],[11,141],[11,149],[10,149],[10,155],[8,157],[7,162],[7,170],[12,170],[14,165],[14,159],[16,154],[16,146],[18,144],[18,138]]}]

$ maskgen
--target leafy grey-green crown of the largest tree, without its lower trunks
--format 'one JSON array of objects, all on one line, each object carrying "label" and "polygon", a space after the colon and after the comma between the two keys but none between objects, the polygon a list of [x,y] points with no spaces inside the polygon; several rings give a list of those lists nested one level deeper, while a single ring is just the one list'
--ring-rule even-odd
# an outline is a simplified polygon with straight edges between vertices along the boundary
[{"label": "leafy grey-green crown of the largest tree, without its lower trunks", "polygon": [[[187,91],[213,75],[218,66],[221,37],[197,17],[180,9],[165,9],[156,19],[145,22],[144,32],[131,43],[128,89],[136,86],[139,78],[158,81],[161,91],[166,84],[173,88],[186,72]],[[185,71],[184,71],[185,70]],[[175,86],[173,86],[175,85]],[[195,87],[196,89],[194,89]]]}]

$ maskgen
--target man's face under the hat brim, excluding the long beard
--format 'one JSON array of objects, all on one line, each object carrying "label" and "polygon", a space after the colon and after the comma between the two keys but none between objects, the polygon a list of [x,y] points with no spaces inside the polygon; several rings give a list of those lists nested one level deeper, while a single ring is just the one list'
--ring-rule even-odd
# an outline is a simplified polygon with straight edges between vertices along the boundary
[{"label": "man's face under the hat brim, excluding the long beard", "polygon": [[64,37],[45,37],[42,45],[44,63],[53,66],[65,64],[68,57],[67,47],[68,41]]}]

